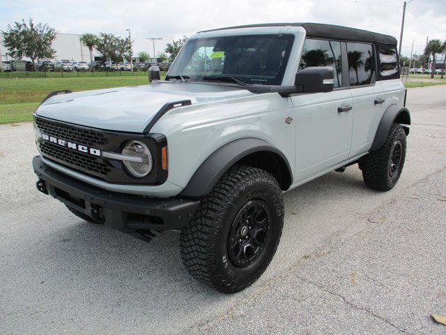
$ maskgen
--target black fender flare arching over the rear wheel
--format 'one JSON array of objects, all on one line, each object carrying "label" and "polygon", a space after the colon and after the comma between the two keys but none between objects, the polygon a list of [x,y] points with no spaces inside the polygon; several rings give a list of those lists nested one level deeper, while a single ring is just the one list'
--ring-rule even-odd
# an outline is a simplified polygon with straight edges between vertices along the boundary
[{"label": "black fender flare arching over the rear wheel", "polygon": [[[410,125],[409,110],[406,107],[399,107],[398,105],[390,105],[387,107],[387,110],[385,110],[383,117],[379,121],[370,151],[378,150],[384,144],[392,124]],[[404,131],[406,131],[406,135],[409,135],[409,128],[407,126],[404,126]]]}]

